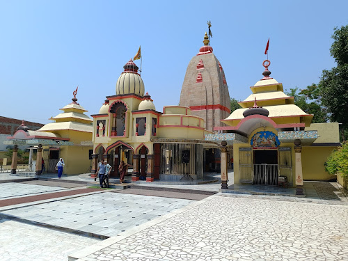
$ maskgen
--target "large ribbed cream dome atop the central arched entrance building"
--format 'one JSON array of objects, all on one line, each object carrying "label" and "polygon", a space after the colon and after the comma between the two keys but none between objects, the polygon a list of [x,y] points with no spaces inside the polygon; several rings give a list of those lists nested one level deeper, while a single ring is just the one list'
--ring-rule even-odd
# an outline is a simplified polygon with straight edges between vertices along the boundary
[{"label": "large ribbed cream dome atop the central arched entrance building", "polygon": [[141,97],[144,95],[144,83],[138,73],[138,66],[133,63],[132,59],[123,66],[125,69],[116,83],[116,95],[136,94]]}]

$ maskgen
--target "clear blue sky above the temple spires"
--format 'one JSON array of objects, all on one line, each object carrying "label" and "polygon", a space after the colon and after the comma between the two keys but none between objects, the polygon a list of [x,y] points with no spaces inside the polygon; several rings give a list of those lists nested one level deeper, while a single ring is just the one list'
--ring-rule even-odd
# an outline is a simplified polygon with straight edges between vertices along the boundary
[{"label": "clear blue sky above the temple spires", "polygon": [[271,77],[306,88],[335,66],[331,35],[347,10],[346,0],[0,1],[0,116],[50,122],[77,86],[79,104],[98,113],[139,45],[157,111],[177,105],[207,20],[230,97],[244,100],[262,78],[268,38]]}]

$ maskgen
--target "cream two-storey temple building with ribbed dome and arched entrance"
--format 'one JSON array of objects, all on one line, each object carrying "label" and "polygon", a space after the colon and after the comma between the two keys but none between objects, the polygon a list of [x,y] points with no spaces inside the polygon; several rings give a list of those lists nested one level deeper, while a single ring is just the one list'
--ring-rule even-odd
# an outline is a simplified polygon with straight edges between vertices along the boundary
[{"label": "cream two-storey temple building with ribbed dome and arched entrance", "polygon": [[132,180],[177,181],[203,178],[203,147],[216,143],[205,141],[203,118],[191,115],[187,106],[164,106],[157,111],[138,66],[132,59],[125,64],[116,82],[116,95],[106,96],[97,114],[93,114],[93,168],[101,159],[119,177],[121,161],[132,165]]}]

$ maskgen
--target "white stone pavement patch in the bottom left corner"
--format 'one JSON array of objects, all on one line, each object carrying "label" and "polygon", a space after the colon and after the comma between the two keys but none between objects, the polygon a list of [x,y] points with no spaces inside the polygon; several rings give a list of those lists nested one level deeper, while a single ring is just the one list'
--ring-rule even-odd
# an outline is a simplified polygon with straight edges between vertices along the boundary
[{"label": "white stone pavement patch in the bottom left corner", "polygon": [[70,253],[100,242],[66,232],[0,219],[1,261],[63,261]]}]

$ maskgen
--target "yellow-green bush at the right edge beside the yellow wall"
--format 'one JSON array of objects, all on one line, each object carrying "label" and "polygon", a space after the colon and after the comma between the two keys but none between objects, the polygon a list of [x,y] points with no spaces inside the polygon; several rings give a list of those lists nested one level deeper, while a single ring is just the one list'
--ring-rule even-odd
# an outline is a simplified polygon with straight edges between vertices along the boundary
[{"label": "yellow-green bush at the right edge beside the yellow wall", "polygon": [[325,171],[332,175],[348,177],[348,142],[331,152],[325,162]]}]

